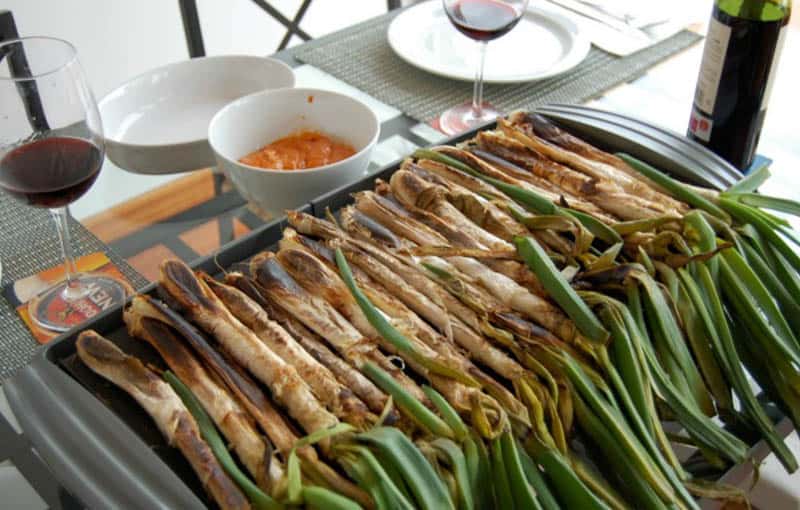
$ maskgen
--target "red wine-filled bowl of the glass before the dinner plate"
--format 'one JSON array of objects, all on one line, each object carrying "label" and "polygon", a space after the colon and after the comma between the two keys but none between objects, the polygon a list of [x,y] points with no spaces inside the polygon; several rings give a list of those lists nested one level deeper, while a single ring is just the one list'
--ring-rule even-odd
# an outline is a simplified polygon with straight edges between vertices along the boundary
[{"label": "red wine-filled bowl of the glass before the dinner plate", "polygon": [[521,17],[513,6],[498,0],[458,0],[446,12],[459,32],[476,41],[502,37]]}]

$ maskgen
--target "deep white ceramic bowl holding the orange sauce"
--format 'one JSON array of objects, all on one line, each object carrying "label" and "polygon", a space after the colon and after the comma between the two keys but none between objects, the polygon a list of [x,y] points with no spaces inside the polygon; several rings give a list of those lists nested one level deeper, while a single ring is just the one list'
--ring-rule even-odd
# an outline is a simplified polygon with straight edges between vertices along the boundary
[{"label": "deep white ceramic bowl holding the orange sauce", "polygon": [[[356,153],[306,170],[265,170],[239,163],[264,145],[300,130],[316,130],[349,143]],[[280,89],[237,99],[208,128],[217,165],[244,198],[278,217],[366,174],[380,123],[364,103],[337,92]]]}]

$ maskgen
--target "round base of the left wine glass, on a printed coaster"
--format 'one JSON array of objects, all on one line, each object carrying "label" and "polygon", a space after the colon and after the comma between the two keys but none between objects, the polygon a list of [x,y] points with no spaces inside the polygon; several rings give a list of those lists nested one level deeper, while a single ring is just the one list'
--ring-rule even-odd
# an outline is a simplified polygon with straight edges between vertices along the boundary
[{"label": "round base of the left wine glass, on a printed coaster", "polygon": [[125,302],[128,287],[102,274],[79,273],[71,285],[59,282],[28,302],[34,324],[48,331],[68,331]]}]

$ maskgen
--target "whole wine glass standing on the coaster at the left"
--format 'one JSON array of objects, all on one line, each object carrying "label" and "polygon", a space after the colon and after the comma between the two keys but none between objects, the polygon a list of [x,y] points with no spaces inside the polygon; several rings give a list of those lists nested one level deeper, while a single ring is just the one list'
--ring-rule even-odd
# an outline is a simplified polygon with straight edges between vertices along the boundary
[{"label": "whole wine glass standing on the coaster at the left", "polygon": [[[6,65],[3,65],[3,60]],[[50,37],[0,43],[0,188],[50,209],[64,255],[64,279],[29,301],[32,321],[66,331],[124,301],[126,286],[78,273],[68,205],[92,186],[103,164],[100,113],[75,48]]]}]

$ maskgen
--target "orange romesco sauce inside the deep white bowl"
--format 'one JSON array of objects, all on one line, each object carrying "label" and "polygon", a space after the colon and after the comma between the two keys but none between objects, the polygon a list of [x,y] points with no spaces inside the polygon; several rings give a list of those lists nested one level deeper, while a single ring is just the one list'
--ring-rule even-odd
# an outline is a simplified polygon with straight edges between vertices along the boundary
[{"label": "orange romesco sauce inside the deep white bowl", "polygon": [[356,151],[318,131],[300,131],[265,145],[239,160],[270,170],[302,170],[336,163]]}]

